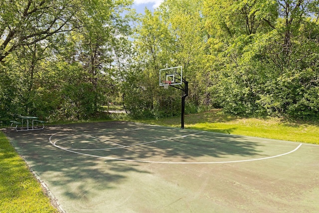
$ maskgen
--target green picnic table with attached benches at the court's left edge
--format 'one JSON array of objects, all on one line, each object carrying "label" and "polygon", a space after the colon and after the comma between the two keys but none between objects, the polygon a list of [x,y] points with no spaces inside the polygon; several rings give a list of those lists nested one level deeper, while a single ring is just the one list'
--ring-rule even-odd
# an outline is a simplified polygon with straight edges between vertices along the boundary
[{"label": "green picnic table with attached benches at the court's left edge", "polygon": [[[12,125],[15,124],[14,128],[15,128],[15,131],[17,131],[17,132],[44,129],[45,121],[37,120],[38,117],[35,117],[35,116],[18,116],[18,118],[21,119],[21,122],[19,122],[19,121],[10,121],[11,122],[11,128],[12,128]],[[25,127],[23,127],[23,121],[26,122],[26,126]],[[34,123],[36,124],[36,126],[34,126]],[[42,127],[38,127],[38,123],[41,123]],[[18,127],[19,125],[21,125],[21,127]]]}]

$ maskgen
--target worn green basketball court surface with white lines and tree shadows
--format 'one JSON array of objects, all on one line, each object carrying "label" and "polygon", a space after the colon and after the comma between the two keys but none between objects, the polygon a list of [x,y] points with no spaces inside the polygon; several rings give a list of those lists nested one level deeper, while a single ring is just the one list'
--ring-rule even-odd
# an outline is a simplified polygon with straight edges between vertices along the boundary
[{"label": "worn green basketball court surface with white lines and tree shadows", "polygon": [[129,122],[4,133],[61,212],[319,212],[318,145]]}]

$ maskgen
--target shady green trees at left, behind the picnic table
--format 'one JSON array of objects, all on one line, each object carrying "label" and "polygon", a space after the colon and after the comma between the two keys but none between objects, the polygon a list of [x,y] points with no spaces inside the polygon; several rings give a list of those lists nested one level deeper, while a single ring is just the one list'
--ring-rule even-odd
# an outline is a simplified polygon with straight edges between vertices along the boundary
[{"label": "shady green trees at left, behind the picnic table", "polygon": [[105,67],[114,61],[116,40],[129,34],[130,19],[123,14],[130,4],[132,0],[1,2],[1,73],[7,76],[1,79],[10,90],[1,88],[5,97],[0,99],[12,106],[3,117],[93,115],[108,91]]}]

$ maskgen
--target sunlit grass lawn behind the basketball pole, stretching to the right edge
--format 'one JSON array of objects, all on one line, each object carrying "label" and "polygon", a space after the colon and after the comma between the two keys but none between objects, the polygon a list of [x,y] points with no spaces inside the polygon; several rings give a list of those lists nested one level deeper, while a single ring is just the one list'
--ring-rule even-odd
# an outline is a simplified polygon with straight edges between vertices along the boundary
[{"label": "sunlit grass lawn behind the basketball pole, stretching to the right edge", "polygon": [[[149,124],[180,127],[180,116],[138,121]],[[285,121],[279,118],[242,118],[226,115],[220,110],[185,115],[185,128],[319,144],[319,124]]]}]

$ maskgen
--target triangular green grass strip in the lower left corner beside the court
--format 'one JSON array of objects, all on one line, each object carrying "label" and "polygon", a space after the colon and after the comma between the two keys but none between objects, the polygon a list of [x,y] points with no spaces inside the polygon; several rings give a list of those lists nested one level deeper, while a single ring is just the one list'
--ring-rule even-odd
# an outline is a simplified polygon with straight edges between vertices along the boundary
[{"label": "triangular green grass strip in the lower left corner beside the court", "polygon": [[26,163],[0,132],[0,213],[58,213]]}]

